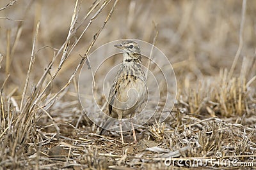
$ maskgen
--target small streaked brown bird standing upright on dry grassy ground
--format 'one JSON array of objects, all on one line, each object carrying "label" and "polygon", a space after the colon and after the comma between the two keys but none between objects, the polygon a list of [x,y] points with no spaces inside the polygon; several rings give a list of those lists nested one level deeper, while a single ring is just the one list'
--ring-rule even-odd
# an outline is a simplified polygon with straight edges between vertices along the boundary
[{"label": "small streaked brown bird standing upright on dry grassy ground", "polygon": [[[138,43],[125,40],[116,48],[122,50],[123,60],[116,73],[108,97],[109,116],[118,118],[122,143],[124,137],[122,132],[122,118],[131,118],[131,127],[134,143],[137,143],[132,117],[145,101],[147,94],[146,77],[141,64],[141,49]],[[113,124],[113,119],[108,118],[102,126],[100,135],[106,133]]]}]

